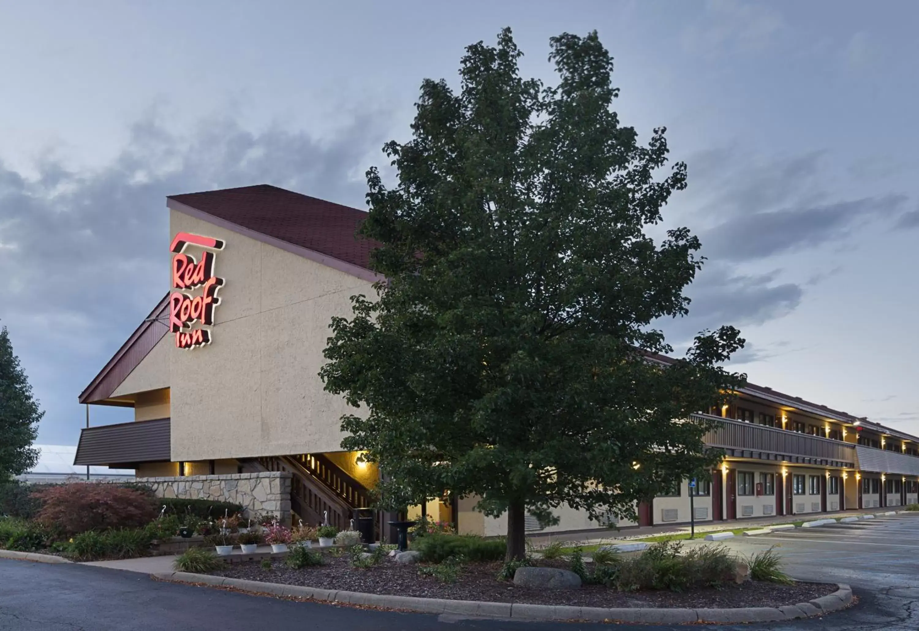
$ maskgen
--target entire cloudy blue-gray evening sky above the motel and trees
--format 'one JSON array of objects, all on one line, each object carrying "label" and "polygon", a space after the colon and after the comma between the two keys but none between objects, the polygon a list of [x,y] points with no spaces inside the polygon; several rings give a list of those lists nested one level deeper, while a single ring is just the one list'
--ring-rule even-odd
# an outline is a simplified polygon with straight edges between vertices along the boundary
[{"label": "entire cloudy blue-gray evening sky above the motel and trees", "polygon": [[917,434],[917,23],[908,0],[0,2],[0,324],[39,442],[76,443],[77,395],[162,297],[165,196],[365,208],[422,79],[456,85],[505,26],[546,81],[549,38],[596,28],[622,121],[688,163],[665,220],[709,262],[674,342],[734,324],[752,382]]}]

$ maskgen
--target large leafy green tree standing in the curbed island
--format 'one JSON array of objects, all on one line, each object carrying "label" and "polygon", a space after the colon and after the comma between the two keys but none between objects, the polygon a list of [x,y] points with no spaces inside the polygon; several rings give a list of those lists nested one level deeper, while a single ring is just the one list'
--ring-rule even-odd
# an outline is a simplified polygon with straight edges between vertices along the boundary
[{"label": "large leafy green tree standing in the curbed island", "polygon": [[[397,505],[445,490],[507,513],[508,558],[524,517],[568,504],[598,518],[714,464],[690,412],[743,376],[719,367],[739,332],[701,332],[686,356],[655,321],[686,315],[698,239],[655,242],[686,165],[664,129],[645,144],[611,109],[612,59],[597,39],[550,40],[557,85],[518,73],[509,29],[466,50],[461,90],[425,80],[413,138],[391,141],[398,184],[368,172],[363,233],[386,277],[335,318],[321,376],[364,413],[347,449],[366,450]],[[662,231],[663,236],[663,231]]]}]

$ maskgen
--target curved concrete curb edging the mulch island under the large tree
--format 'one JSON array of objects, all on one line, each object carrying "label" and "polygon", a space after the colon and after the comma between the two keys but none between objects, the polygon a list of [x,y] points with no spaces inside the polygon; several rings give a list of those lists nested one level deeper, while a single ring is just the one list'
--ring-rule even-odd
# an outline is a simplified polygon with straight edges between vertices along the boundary
[{"label": "curved concrete curb edging the mulch island under the large tree", "polygon": [[211,576],[210,574],[189,574],[187,572],[161,572],[153,574],[153,578],[169,582],[203,583],[213,587],[232,587],[242,592],[309,598],[313,601],[325,603],[362,604],[386,609],[413,611],[421,614],[459,614],[505,620],[588,620],[654,625],[709,622],[781,622],[794,620],[795,618],[806,618],[811,615],[829,614],[852,603],[852,589],[843,584],[838,584],[839,589],[835,592],[814,599],[810,603],[798,603],[781,607],[606,609],[603,607],[569,607],[551,604],[479,603],[476,601],[453,601],[443,598],[416,598],[414,596],[341,592],[301,587],[300,585],[267,583],[260,580],[226,579],[221,576]]}]

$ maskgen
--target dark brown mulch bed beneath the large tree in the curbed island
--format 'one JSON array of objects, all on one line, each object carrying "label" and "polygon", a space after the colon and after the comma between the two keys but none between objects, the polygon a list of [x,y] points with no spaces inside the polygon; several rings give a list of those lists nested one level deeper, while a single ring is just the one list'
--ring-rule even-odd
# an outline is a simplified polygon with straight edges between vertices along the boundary
[{"label": "dark brown mulch bed beneath the large tree in the curbed island", "polygon": [[[289,569],[283,560],[274,559],[271,569],[259,563],[227,565],[213,574],[234,579],[302,585],[324,590],[447,598],[458,601],[490,603],[559,604],[584,607],[778,607],[808,601],[835,592],[835,585],[796,582],[793,585],[748,581],[720,588],[701,588],[687,592],[644,591],[618,592],[603,585],[584,585],[579,590],[542,591],[517,587],[513,582],[497,580],[501,563],[468,563],[459,580],[444,583],[435,577],[419,574],[421,565],[403,565],[384,559],[369,569],[348,565],[346,557],[335,558],[324,553],[326,565]],[[547,564],[548,565],[548,564]],[[555,564],[551,564],[555,565]]]}]

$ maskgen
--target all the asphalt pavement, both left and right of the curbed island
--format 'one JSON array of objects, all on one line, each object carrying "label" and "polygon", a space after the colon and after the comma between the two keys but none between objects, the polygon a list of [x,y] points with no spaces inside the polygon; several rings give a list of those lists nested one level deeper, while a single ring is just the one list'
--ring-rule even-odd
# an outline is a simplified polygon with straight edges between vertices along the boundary
[{"label": "all the asphalt pavement, both left and right of the curbed island", "polygon": [[[701,542],[687,542],[687,546]],[[694,629],[914,631],[919,629],[919,515],[897,515],[761,537],[725,545],[743,554],[769,546],[787,559],[795,578],[846,582],[860,603],[823,619],[763,625],[692,625]],[[524,623],[403,614],[319,603],[298,603],[153,580],[136,572],[82,564],[47,565],[0,559],[0,629],[130,631],[182,629],[587,629],[577,623]],[[686,626],[617,625],[617,629]]]}]

